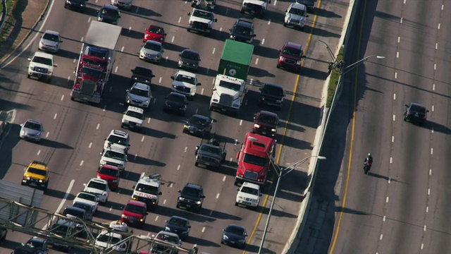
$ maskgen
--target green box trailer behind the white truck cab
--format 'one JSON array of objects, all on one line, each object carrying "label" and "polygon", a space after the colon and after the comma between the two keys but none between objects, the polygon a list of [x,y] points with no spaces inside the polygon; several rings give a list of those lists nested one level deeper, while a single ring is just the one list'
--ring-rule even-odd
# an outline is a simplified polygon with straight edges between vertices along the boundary
[{"label": "green box trailer behind the white truck cab", "polygon": [[253,53],[254,45],[252,44],[226,40],[223,54],[219,61],[218,74],[247,80]]}]

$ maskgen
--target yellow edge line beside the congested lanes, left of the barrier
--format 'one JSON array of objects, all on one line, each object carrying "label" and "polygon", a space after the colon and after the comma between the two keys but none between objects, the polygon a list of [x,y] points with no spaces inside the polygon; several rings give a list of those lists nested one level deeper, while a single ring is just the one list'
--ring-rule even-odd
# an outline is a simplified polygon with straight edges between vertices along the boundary
[{"label": "yellow edge line beside the congested lanes, left of the barrier", "polygon": [[[321,6],[321,0],[318,1],[318,6]],[[317,13],[318,13],[318,8],[316,8],[316,13],[315,13],[313,22],[311,23],[311,30],[310,30],[310,34],[309,34],[309,39],[307,39],[307,44],[305,44],[304,53],[307,52],[307,49],[309,48],[309,44],[310,44],[311,36],[312,36],[311,32],[313,31],[313,28],[315,27],[315,24],[316,24],[316,19],[318,18]],[[304,66],[304,59],[302,59],[301,66]],[[295,88],[293,89],[292,96],[291,96],[290,108],[288,109],[287,123],[286,123],[285,127],[283,128],[282,140],[280,140],[279,150],[278,150],[277,158],[276,158],[276,164],[279,164],[280,156],[282,155],[283,140],[285,140],[285,135],[287,133],[288,123],[290,123],[291,110],[292,110],[292,107],[293,107],[293,103],[295,102],[296,91],[297,91],[297,87],[299,85],[299,77],[300,76],[298,74],[296,76]],[[273,181],[273,183],[274,183],[274,181]],[[272,183],[271,183],[271,185],[272,185]],[[271,189],[271,188],[269,188],[269,189]],[[266,194],[262,207],[266,207],[266,202],[268,202],[268,198],[269,198],[269,194]],[[261,217],[263,216],[263,209],[261,209],[261,210],[262,211],[259,213],[259,217],[257,217],[257,222],[255,222],[254,229],[252,229],[252,233],[249,235],[249,238],[247,238],[247,244],[251,243],[252,238],[254,237],[254,234],[257,231],[257,227],[260,224]],[[243,250],[242,254],[245,254],[245,253],[246,253],[246,250]]]}]

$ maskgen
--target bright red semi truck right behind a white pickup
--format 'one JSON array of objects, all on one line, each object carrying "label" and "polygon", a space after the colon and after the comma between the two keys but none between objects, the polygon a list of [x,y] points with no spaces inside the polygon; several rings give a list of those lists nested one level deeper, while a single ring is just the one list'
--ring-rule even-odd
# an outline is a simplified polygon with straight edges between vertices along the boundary
[{"label": "bright red semi truck right behind a white pickup", "polygon": [[238,168],[235,175],[235,185],[245,181],[264,185],[271,167],[269,156],[274,157],[275,155],[275,138],[252,132],[246,133],[241,150],[237,152]]}]

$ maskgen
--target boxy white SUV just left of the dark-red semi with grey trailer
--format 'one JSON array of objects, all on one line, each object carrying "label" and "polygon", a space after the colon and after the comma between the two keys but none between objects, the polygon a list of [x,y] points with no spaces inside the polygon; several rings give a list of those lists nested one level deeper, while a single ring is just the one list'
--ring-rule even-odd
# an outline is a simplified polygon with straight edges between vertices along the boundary
[{"label": "boxy white SUV just left of the dark-red semi with grey trailer", "polygon": [[51,76],[54,73],[54,67],[57,65],[54,63],[54,56],[47,53],[35,52],[32,58],[28,59],[30,65],[28,65],[28,78],[45,79],[48,83],[51,81]]}]

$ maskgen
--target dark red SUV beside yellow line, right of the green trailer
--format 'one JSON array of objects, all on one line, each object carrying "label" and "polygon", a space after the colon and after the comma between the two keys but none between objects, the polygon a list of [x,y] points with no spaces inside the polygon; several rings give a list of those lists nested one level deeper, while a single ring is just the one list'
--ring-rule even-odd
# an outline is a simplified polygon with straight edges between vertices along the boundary
[{"label": "dark red SUV beside yellow line, right of the green trailer", "polygon": [[280,49],[277,68],[287,68],[292,71],[301,71],[301,63],[304,58],[302,46],[293,42],[287,42]]}]

